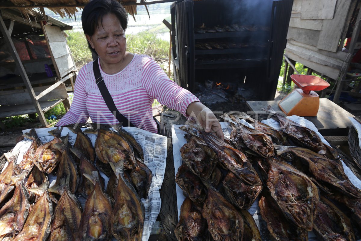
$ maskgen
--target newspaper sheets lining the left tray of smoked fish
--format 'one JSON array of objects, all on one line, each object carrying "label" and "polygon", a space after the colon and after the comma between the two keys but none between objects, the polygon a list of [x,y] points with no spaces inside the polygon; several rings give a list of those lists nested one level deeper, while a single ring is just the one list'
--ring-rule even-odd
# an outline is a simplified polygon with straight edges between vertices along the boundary
[{"label": "newspaper sheets lining the left tray of smoked fish", "polygon": [[[54,138],[51,134],[48,133],[48,131],[53,129],[56,128],[55,127],[41,128],[41,129],[35,129],[35,131],[40,141],[42,143],[45,143],[51,141]],[[82,131],[84,131],[87,128],[81,128],[81,129]],[[141,199],[141,201],[144,203],[144,208],[145,208],[142,241],[147,241],[149,239],[150,234],[153,231],[153,227],[158,229],[156,219],[158,217],[161,207],[159,189],[161,188],[165,173],[165,165],[167,158],[167,137],[154,134],[135,127],[123,127],[123,129],[129,132],[139,143],[139,145],[142,146],[144,151],[144,163],[152,171],[153,174],[153,179],[152,179],[151,187],[149,189],[148,197],[147,199],[144,198]],[[23,130],[23,133],[29,132],[30,130],[31,129]],[[86,134],[90,138],[94,146],[97,134],[90,134],[90,133],[84,133],[84,134]],[[69,142],[73,146],[76,139],[76,134],[71,132],[68,128],[63,128],[61,132],[61,136],[65,136],[65,135],[69,135]],[[5,153],[4,155],[6,155],[6,157],[9,157],[18,154],[17,163],[20,163],[23,159],[23,155],[25,154],[27,149],[29,149],[31,143],[32,143],[31,140],[25,138],[25,140],[17,143],[17,145],[14,147],[12,152]],[[7,164],[8,163],[6,162],[3,170],[5,169]],[[100,170],[99,173],[104,178],[105,181],[104,189],[106,190],[106,186],[108,185],[109,178],[105,176],[105,174]],[[50,186],[53,186],[56,181],[56,176],[52,174],[49,174],[48,176],[49,176]],[[79,201],[82,204],[82,207],[84,208],[86,199],[84,199],[80,194],[77,195],[77,198],[79,199]],[[112,241],[113,240],[116,239],[112,238]]]}]

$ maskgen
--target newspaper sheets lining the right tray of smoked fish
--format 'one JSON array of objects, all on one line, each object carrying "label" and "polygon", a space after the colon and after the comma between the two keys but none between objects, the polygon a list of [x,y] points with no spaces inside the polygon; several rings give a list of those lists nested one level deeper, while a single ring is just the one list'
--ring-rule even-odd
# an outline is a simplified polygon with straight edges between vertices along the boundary
[{"label": "newspaper sheets lining the right tray of smoked fish", "polygon": [[[317,131],[316,126],[314,126],[314,124],[311,121],[306,120],[305,118],[300,117],[300,116],[290,116],[289,118],[290,118],[290,120],[295,121],[296,123],[298,123],[300,125],[306,126],[307,128],[314,130],[319,135],[319,137],[321,138],[323,143],[330,145],[325,140],[325,138],[323,138],[322,135]],[[242,120],[242,121],[244,121],[244,120]],[[231,133],[231,128],[228,126],[228,124],[226,122],[220,122],[220,123],[221,123],[221,127],[223,130],[223,134],[225,135],[225,137],[229,138],[230,133]],[[273,119],[264,120],[264,121],[262,121],[262,123],[265,123],[275,129],[280,130],[279,123]],[[181,157],[181,152],[179,150],[181,149],[181,147],[184,144],[187,143],[186,139],[184,138],[184,134],[186,134],[186,132],[179,129],[179,127],[181,127],[181,126],[183,126],[183,125],[172,125],[173,157],[174,157],[175,174],[177,174],[178,168],[182,165],[182,162],[183,162],[182,157]],[[343,161],[341,161],[341,162],[342,162],[345,174],[347,175],[349,180],[352,182],[353,185],[355,185],[357,188],[361,189],[361,180],[359,180],[355,176],[355,174],[353,174],[353,172],[345,165],[345,163]],[[181,213],[181,206],[186,197],[183,194],[183,190],[178,186],[177,183],[175,183],[175,188],[177,191],[177,209],[178,209],[178,220],[179,220],[179,215]],[[266,231],[267,227],[265,227],[265,222],[263,221],[263,219],[260,215],[260,208],[258,207],[258,201],[259,201],[259,198],[257,197],[256,201],[252,204],[251,208],[249,208],[248,212],[252,215],[253,219],[255,220],[258,230],[260,230],[261,237],[262,237],[265,235],[264,232],[262,232],[262,231]],[[268,232],[268,231],[266,231],[266,232]],[[262,240],[263,240],[263,238],[262,238]],[[309,241],[317,241],[318,240],[318,238],[316,237],[316,234],[314,234],[313,231],[308,232],[308,240]],[[358,240],[358,241],[360,241],[360,240]]]}]

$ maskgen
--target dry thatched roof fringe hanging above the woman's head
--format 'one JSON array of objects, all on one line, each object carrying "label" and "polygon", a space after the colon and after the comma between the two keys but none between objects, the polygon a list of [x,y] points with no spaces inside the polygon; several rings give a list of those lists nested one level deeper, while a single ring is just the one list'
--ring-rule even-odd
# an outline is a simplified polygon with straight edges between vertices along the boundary
[{"label": "dry thatched roof fringe hanging above the woman's head", "polygon": [[[78,12],[77,8],[83,8],[89,1],[90,0],[0,0],[0,10],[4,8],[17,8],[24,16],[34,16],[35,11],[39,12],[40,8],[48,8],[61,17],[68,16],[71,18]],[[145,0],[140,0],[138,3],[137,0],[117,1],[123,4],[128,13],[134,17],[134,15],[136,15],[136,5],[166,3],[177,0],[156,0],[147,3]]]}]

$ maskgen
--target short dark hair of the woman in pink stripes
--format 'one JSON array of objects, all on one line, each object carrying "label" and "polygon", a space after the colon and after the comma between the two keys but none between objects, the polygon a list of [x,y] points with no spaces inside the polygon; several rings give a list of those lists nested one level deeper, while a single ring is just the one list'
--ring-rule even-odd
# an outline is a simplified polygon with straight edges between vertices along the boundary
[{"label": "short dark hair of the woman in pink stripes", "polygon": [[[113,13],[117,16],[125,31],[128,25],[128,14],[122,4],[115,0],[92,0],[85,5],[82,12],[82,25],[84,34],[93,36],[95,28],[103,26],[103,17]],[[95,52],[88,42],[89,48]]]}]

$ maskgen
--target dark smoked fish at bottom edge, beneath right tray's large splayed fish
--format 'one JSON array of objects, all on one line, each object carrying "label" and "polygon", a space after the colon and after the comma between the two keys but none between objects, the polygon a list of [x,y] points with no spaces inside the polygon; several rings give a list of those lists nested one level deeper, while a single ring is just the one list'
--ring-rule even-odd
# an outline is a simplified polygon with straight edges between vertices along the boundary
[{"label": "dark smoked fish at bottom edge, beneath right tray's large splayed fish", "polygon": [[265,193],[266,191],[262,192],[258,206],[262,219],[266,221],[267,229],[274,240],[308,241],[306,229],[297,227],[288,221],[270,194]]}]

